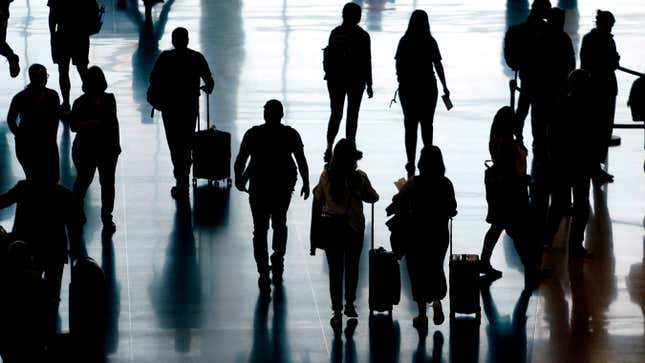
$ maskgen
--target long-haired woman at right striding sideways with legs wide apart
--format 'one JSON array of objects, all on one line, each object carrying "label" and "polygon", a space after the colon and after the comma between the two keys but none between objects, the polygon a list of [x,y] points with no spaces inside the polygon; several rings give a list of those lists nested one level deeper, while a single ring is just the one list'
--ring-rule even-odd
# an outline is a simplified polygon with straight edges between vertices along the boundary
[{"label": "long-haired woman at right striding sideways with legs wide apart", "polygon": [[513,239],[515,250],[524,265],[527,286],[535,284],[537,268],[536,242],[530,238],[528,176],[526,151],[513,137],[513,109],[505,106],[495,115],[488,148],[493,165],[486,171],[486,222],[490,227],[484,237],[481,253],[481,272],[496,279],[502,273],[490,264],[493,249],[503,231]]}]

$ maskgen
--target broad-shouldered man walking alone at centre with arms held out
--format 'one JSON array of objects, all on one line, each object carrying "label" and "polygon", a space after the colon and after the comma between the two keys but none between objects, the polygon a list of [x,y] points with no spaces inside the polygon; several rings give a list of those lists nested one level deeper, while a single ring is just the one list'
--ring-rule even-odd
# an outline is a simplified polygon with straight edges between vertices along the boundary
[{"label": "broad-shouldered man walking alone at centre with arms held out", "polygon": [[[235,187],[248,191],[253,215],[253,255],[257,264],[260,292],[271,291],[282,281],[287,248],[287,210],[296,185],[298,171],[302,178],[300,195],[309,197],[309,168],[298,131],[280,123],[282,103],[269,100],[264,105],[263,125],[249,129],[242,138],[235,159]],[[251,161],[247,165],[247,161]],[[295,163],[294,163],[295,158]],[[297,166],[296,166],[297,165]],[[249,181],[247,190],[246,184]],[[269,221],[273,229],[271,265],[267,251]]]}]

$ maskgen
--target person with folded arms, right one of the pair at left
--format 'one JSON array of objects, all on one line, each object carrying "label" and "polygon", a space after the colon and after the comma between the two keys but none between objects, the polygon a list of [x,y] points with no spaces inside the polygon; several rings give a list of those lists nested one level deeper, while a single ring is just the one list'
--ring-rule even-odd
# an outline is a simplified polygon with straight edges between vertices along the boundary
[{"label": "person with folded arms, right one of the pair at left", "polygon": [[94,173],[101,184],[101,221],[103,231],[113,233],[112,220],[116,164],[121,153],[116,99],[106,93],[107,81],[101,68],[88,69],[83,80],[83,95],[74,101],[71,129],[76,132],[72,158],[76,166],[74,194],[83,203]]}]

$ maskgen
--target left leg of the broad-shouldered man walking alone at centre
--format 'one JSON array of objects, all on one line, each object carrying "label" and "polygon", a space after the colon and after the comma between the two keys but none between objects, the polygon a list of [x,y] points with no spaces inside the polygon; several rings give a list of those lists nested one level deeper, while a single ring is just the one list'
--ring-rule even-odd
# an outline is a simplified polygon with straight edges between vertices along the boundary
[{"label": "left leg of the broad-shouldered man walking alone at centre", "polygon": [[249,196],[251,215],[253,217],[253,256],[257,265],[260,279],[258,284],[260,291],[270,290],[271,280],[269,277],[269,253],[267,247],[267,233],[269,232],[269,207],[265,200],[266,196],[253,193]]}]

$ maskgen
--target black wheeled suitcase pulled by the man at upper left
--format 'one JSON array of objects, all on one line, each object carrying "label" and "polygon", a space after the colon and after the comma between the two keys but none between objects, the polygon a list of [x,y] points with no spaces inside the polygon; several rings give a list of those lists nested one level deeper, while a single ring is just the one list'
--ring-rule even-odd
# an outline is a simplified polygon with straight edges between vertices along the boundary
[{"label": "black wheeled suitcase pulled by the man at upper left", "polygon": [[210,127],[210,100],[206,95],[206,129],[200,129],[193,136],[193,186],[197,179],[206,179],[208,184],[225,181],[231,186],[231,134]]}]

